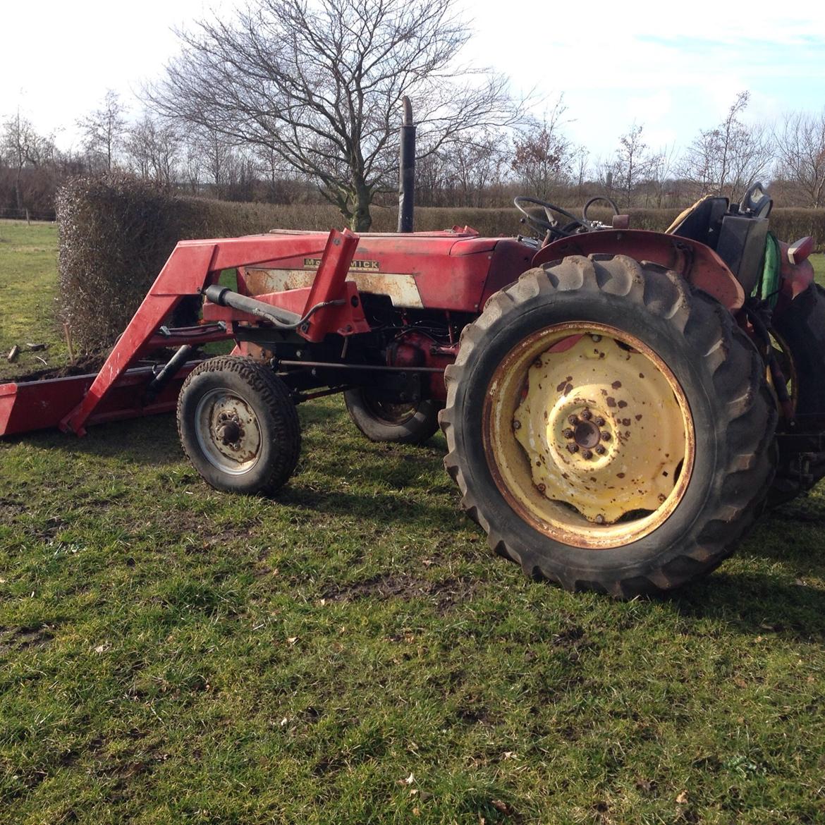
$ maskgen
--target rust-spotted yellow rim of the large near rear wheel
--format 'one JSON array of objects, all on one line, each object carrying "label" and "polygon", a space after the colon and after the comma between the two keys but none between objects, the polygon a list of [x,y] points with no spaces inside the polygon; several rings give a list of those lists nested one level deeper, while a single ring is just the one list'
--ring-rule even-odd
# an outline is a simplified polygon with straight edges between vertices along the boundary
[{"label": "rust-spotted yellow rim of the large near rear wheel", "polygon": [[606,549],[662,525],[691,478],[681,385],[626,332],[566,323],[502,360],[483,410],[488,465],[510,506],[564,544]]}]

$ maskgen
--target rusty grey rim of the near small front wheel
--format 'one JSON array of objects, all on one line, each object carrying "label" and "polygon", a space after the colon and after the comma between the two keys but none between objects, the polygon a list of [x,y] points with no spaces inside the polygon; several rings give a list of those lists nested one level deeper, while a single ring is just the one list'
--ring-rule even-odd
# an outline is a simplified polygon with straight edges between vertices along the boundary
[{"label": "rusty grey rim of the near small front wheel", "polygon": [[195,410],[200,451],[213,467],[230,475],[248,473],[261,455],[261,427],[247,401],[226,389],[212,389]]}]

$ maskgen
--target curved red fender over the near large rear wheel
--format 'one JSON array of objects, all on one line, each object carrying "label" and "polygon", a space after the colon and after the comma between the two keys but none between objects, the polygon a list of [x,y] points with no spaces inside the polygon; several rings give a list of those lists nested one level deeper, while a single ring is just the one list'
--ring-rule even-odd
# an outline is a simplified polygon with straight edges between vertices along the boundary
[{"label": "curved red fender over the near large rear wheel", "polygon": [[533,266],[570,255],[599,254],[627,255],[637,261],[667,266],[691,286],[713,295],[732,313],[745,303],[742,285],[710,247],[691,238],[646,229],[600,229],[559,238],[535,253]]}]

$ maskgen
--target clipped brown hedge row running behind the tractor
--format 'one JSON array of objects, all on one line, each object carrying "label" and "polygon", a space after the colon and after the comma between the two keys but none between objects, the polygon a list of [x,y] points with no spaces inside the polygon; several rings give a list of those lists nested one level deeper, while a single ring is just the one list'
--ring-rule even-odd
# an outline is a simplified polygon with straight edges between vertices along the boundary
[{"label": "clipped brown hedge row running behind the tractor", "polygon": [[[631,210],[635,229],[662,231],[679,210]],[[342,226],[326,205],[239,204],[173,196],[115,174],[77,178],[59,192],[59,291],[63,320],[85,351],[110,347],[129,323],[179,240],[228,238],[269,229]],[[609,221],[609,213],[592,215]],[[375,207],[373,231],[395,230],[397,211]],[[526,231],[514,209],[416,210],[418,231],[469,225],[483,235]],[[781,209],[771,215],[780,238],[825,240],[825,210]]]}]

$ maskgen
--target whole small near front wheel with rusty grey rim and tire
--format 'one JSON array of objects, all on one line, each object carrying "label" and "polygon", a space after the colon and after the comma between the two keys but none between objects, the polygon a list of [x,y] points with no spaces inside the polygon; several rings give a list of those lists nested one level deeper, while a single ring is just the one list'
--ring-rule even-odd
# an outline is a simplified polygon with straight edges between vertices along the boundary
[{"label": "whole small near front wheel with rusty grey rim and tire", "polygon": [[177,431],[195,469],[218,490],[271,495],[298,464],[290,391],[249,358],[210,358],[191,371],[177,399]]}]

